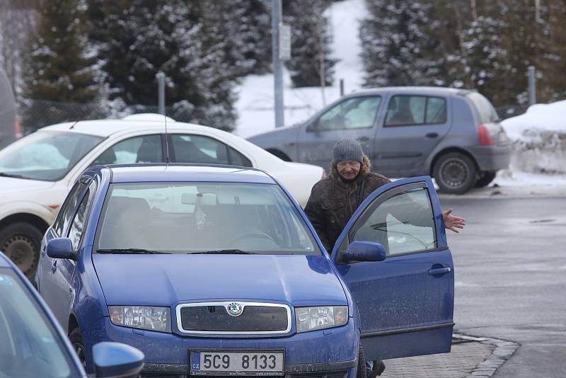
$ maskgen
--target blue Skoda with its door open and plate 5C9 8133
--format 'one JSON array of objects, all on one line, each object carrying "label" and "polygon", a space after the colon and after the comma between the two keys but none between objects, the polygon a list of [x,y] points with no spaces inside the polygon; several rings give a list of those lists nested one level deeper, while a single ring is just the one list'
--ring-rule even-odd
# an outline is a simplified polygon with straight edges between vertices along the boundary
[{"label": "blue Skoda with its door open and plate 5C9 8133", "polygon": [[[253,168],[88,168],[42,241],[36,285],[77,345],[133,345],[143,377],[356,377],[449,352],[454,265],[429,177],[384,185],[331,254]],[[362,371],[362,370],[360,370]]]}]

